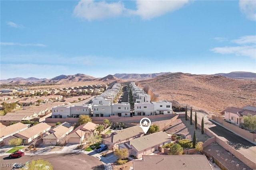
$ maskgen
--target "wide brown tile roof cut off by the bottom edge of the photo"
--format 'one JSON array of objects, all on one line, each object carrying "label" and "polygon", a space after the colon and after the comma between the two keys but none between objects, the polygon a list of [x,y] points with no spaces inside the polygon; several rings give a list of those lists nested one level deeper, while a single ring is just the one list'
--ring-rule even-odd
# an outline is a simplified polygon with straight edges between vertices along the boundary
[{"label": "wide brown tile roof cut off by the bottom edge of the photo", "polygon": [[133,160],[134,170],[212,170],[205,155],[143,155]]}]

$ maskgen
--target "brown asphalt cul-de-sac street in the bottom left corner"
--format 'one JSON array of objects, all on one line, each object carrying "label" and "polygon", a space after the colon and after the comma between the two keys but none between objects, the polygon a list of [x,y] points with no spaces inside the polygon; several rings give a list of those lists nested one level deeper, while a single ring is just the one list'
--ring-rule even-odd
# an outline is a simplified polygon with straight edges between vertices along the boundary
[{"label": "brown asphalt cul-de-sac street in the bottom left corner", "polygon": [[1,156],[1,170],[10,170],[13,163],[25,164],[27,161],[44,159],[48,160],[53,169],[58,170],[104,170],[103,163],[94,156],[80,153],[63,153],[40,156],[22,156],[20,158],[8,158]]}]

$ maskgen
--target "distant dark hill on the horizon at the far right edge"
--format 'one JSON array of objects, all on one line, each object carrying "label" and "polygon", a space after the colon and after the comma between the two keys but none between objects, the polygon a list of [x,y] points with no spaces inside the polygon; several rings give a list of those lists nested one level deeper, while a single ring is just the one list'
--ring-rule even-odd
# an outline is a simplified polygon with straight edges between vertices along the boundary
[{"label": "distant dark hill on the horizon at the far right edge", "polygon": [[224,77],[229,77],[233,79],[256,80],[256,73],[244,72],[244,71],[234,71],[231,73],[218,73],[214,75],[222,75]]}]

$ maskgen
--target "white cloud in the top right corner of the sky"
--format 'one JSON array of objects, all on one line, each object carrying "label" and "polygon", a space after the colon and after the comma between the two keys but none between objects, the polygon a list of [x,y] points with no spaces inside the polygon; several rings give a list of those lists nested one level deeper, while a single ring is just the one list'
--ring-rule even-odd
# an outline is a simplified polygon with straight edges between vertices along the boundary
[{"label": "white cloud in the top right corner of the sky", "polygon": [[246,15],[248,20],[256,21],[256,1],[240,0],[239,7],[242,13]]}]

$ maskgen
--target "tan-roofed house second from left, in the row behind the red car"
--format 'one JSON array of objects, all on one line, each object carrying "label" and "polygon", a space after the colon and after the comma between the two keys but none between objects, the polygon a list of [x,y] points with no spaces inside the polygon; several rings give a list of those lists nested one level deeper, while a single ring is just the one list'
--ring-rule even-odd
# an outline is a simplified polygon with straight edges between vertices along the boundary
[{"label": "tan-roofed house second from left, in the row behind the red car", "polygon": [[50,130],[51,126],[47,123],[39,123],[26,130],[22,130],[13,136],[16,138],[22,138],[23,144],[30,144],[34,139],[39,139],[42,137],[43,133]]}]

